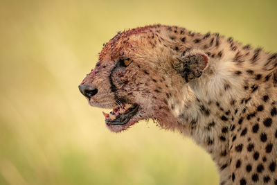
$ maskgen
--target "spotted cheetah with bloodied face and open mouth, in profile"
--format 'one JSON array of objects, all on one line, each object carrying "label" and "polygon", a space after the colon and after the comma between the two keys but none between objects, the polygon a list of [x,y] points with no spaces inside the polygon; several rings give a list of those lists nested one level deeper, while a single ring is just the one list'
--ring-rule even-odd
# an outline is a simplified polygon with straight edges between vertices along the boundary
[{"label": "spotted cheetah with bloodied face and open mouth, in profile", "polygon": [[277,53],[218,33],[152,25],[118,32],[81,93],[112,132],[152,119],[208,152],[220,184],[277,184]]}]

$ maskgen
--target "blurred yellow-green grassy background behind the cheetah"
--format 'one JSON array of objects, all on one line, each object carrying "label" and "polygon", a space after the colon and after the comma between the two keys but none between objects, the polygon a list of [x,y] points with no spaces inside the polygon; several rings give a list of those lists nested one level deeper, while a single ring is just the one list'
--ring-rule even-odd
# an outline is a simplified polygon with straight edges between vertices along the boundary
[{"label": "blurred yellow-green grassy background behind the cheetah", "polygon": [[193,141],[114,134],[78,85],[118,30],[168,24],[277,51],[277,1],[0,1],[0,184],[218,184]]}]

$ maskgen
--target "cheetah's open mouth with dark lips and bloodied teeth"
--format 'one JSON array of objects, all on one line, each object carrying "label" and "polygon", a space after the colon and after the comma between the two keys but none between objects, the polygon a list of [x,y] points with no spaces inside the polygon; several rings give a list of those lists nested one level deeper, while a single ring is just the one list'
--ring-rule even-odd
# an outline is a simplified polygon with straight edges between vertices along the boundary
[{"label": "cheetah's open mouth with dark lips and bloodied teeth", "polygon": [[[126,125],[139,110],[139,105],[123,104],[116,107],[109,114],[102,112],[105,116],[107,126]],[[129,126],[128,126],[129,127]]]}]

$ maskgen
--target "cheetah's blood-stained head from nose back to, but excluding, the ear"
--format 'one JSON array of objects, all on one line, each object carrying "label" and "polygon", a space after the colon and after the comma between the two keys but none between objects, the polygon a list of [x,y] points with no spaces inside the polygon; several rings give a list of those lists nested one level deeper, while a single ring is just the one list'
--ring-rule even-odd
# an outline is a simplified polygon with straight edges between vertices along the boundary
[{"label": "cheetah's blood-stained head from nose back to, but excluding, the ear", "polygon": [[192,94],[175,69],[179,53],[165,29],[145,26],[118,33],[105,44],[95,69],[79,86],[89,105],[112,109],[103,112],[112,132],[149,118],[164,128],[179,125],[173,110],[184,106]]}]

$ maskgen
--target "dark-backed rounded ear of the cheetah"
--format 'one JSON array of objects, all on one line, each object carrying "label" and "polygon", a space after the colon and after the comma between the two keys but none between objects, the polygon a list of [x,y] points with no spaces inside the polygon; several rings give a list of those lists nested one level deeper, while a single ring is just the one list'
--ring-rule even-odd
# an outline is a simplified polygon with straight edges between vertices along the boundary
[{"label": "dark-backed rounded ear of the cheetah", "polygon": [[199,50],[188,51],[181,58],[177,58],[172,67],[186,82],[202,76],[204,69],[208,66],[208,56]]}]

